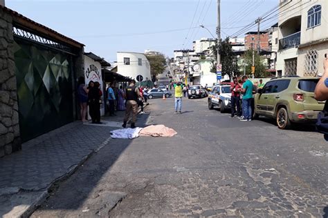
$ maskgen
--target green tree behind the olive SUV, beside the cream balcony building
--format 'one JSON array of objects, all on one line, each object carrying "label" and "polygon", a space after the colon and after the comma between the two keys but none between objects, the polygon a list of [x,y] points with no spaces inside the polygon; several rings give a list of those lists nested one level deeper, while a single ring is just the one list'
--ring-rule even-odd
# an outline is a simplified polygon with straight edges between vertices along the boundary
[{"label": "green tree behind the olive SUV, beside the cream balcony building", "polygon": [[[266,67],[264,66],[264,59],[254,52],[254,66],[255,74],[254,77],[268,77],[270,75],[266,72]],[[245,63],[246,63],[246,75],[252,75],[252,66],[253,66],[253,50],[247,50],[245,52]]]}]

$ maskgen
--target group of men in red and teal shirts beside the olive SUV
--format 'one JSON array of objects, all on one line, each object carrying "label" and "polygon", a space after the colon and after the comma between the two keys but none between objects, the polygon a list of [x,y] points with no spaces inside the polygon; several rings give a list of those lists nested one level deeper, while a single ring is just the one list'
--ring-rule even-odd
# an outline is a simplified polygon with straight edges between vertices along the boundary
[{"label": "group of men in red and teal shirts beside the olive SUV", "polygon": [[251,121],[254,111],[254,95],[258,88],[263,88],[264,83],[259,79],[259,83],[253,84],[247,76],[242,80],[233,77],[230,85],[231,91],[231,117],[238,117],[241,121]]}]

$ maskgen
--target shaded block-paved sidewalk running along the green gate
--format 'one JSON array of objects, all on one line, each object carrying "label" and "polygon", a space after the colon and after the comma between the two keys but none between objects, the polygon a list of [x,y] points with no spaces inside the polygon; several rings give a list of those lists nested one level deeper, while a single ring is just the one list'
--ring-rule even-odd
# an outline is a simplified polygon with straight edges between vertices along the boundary
[{"label": "shaded block-paved sidewalk running along the green gate", "polygon": [[[140,112],[140,111],[139,111]],[[0,217],[27,217],[48,190],[69,177],[120,128],[125,112],[102,117],[102,124],[75,121],[22,144],[0,159]]]}]

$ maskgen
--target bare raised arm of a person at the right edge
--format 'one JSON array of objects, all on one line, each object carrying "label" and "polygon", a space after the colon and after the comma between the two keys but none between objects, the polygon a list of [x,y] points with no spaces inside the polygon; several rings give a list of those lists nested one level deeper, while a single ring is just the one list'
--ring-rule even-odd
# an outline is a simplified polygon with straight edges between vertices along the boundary
[{"label": "bare raised arm of a person at the right edge", "polygon": [[325,69],[321,79],[318,81],[316,90],[314,90],[314,98],[317,101],[328,100],[328,58],[325,54],[325,61],[323,63],[323,68]]}]

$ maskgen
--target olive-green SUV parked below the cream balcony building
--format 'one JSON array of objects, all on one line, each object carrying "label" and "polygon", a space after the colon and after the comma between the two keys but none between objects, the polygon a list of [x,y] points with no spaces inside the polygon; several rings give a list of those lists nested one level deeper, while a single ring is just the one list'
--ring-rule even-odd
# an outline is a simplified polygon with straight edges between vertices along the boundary
[{"label": "olive-green SUV parked below the cream balcony building", "polygon": [[271,79],[255,95],[254,118],[274,118],[280,129],[293,123],[316,121],[325,101],[314,99],[317,77],[280,77]]}]

